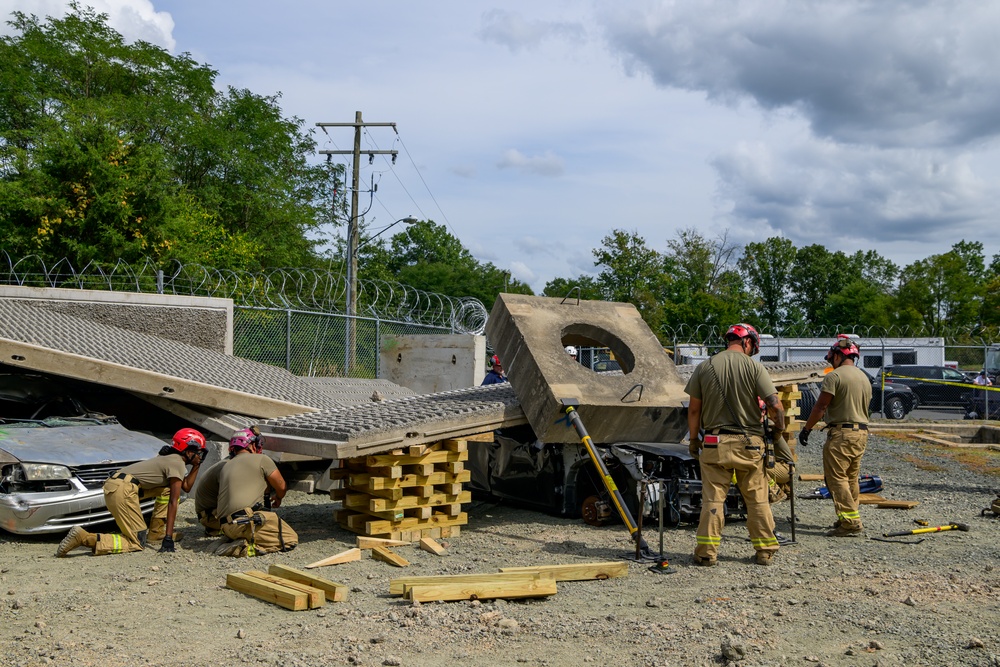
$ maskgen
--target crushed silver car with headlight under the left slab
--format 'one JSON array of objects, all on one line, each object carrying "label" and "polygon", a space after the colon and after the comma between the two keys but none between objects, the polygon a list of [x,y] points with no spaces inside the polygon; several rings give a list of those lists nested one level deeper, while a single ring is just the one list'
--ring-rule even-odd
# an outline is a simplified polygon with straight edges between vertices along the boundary
[{"label": "crushed silver car with headlight under the left slab", "polygon": [[[113,520],[104,482],[163,444],[88,411],[51,378],[0,373],[0,528],[57,533]],[[144,514],[153,502],[141,501]]]}]

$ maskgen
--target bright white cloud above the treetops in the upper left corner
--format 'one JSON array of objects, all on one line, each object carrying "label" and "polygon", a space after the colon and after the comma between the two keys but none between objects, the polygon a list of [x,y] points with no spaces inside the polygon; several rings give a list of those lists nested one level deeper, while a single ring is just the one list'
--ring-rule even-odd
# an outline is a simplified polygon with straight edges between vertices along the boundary
[{"label": "bright white cloud above the treetops in the upper left corner", "polygon": [[[81,0],[81,6],[92,7],[98,14],[108,15],[108,24],[120,32],[126,41],[142,40],[173,51],[174,20],[169,12],[158,12],[150,0]],[[39,18],[63,16],[69,10],[69,0],[0,0],[0,16],[6,21],[13,11],[34,14]],[[0,25],[0,33],[9,33],[10,26]]]}]

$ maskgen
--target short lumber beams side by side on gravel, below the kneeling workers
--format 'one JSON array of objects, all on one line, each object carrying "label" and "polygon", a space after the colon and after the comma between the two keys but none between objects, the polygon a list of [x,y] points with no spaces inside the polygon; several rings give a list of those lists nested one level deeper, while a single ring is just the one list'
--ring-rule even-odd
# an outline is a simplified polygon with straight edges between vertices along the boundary
[{"label": "short lumber beams side by side on gravel, below the kneeling workers", "polygon": [[347,599],[347,587],[343,584],[285,565],[272,565],[266,573],[234,572],[226,575],[226,587],[292,611],[317,609],[327,600]]}]

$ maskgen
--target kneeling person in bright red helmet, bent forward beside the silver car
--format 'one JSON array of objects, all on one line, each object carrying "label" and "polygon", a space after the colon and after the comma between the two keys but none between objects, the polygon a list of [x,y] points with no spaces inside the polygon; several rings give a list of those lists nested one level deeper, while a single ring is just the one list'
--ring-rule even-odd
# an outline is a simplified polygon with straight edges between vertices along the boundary
[{"label": "kneeling person in bright red helmet, bent forward beside the silver car", "polygon": [[[121,534],[91,533],[82,526],[73,526],[59,543],[56,556],[80,547],[92,549],[95,556],[142,551],[147,542],[160,540],[161,552],[173,552],[181,491],[191,490],[207,453],[205,436],[193,428],[182,428],[174,434],[172,444],[160,449],[157,456],[111,475],[104,483],[104,502]],[[190,472],[187,466],[191,466]],[[151,496],[156,501],[147,529],[139,500]]]}]

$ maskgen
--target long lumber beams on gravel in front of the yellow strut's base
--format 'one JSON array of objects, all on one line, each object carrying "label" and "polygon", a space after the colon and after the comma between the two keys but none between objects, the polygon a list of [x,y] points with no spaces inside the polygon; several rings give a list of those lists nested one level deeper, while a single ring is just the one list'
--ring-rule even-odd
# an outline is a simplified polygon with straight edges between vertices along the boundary
[{"label": "long lumber beams on gravel in front of the yellow strut's base", "polygon": [[556,594],[558,581],[611,579],[628,574],[628,563],[580,563],[501,568],[493,574],[401,577],[389,582],[389,594],[414,602],[537,598]]}]

